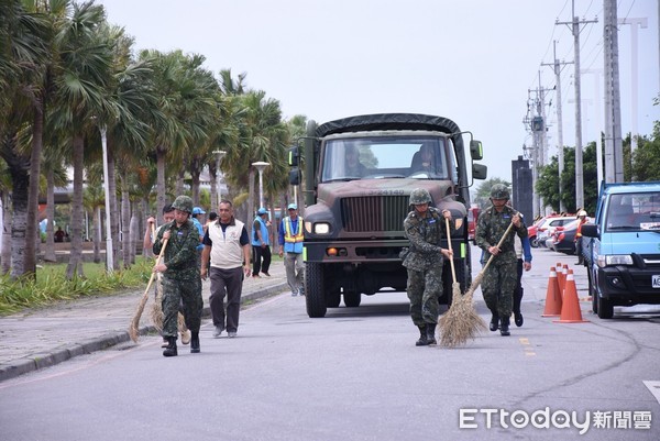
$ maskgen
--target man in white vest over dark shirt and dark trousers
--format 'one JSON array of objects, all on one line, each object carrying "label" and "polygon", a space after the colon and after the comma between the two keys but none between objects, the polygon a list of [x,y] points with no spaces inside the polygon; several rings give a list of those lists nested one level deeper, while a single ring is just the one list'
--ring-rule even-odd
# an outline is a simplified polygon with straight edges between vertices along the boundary
[{"label": "man in white vest over dark shirt and dark trousers", "polygon": [[[233,217],[229,200],[222,200],[218,208],[219,218],[210,223],[204,236],[201,252],[201,278],[207,278],[209,258],[211,267],[211,296],[209,306],[213,319],[213,337],[219,338],[227,329],[230,338],[237,337],[243,279],[250,269],[250,236],[245,224]],[[227,313],[224,295],[227,294]]]}]

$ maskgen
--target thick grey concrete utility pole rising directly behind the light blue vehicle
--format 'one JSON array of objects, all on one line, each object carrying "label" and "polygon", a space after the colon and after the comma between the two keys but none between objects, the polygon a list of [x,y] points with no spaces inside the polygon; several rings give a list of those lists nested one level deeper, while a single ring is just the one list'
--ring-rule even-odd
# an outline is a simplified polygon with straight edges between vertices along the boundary
[{"label": "thick grey concrete utility pole rising directly behind the light blue vehicle", "polygon": [[605,58],[605,181],[624,181],[624,144],[618,69],[616,0],[604,0],[603,49]]}]

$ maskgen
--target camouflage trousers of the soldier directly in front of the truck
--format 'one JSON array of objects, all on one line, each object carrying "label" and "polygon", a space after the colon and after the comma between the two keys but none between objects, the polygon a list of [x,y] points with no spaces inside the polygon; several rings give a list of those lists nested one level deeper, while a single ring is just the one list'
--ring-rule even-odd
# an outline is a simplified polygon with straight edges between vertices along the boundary
[{"label": "camouflage trousers of the soldier directly in front of the truck", "polygon": [[408,268],[406,289],[413,323],[417,327],[437,323],[440,309],[438,299],[442,296],[442,265],[433,265],[425,271]]}]

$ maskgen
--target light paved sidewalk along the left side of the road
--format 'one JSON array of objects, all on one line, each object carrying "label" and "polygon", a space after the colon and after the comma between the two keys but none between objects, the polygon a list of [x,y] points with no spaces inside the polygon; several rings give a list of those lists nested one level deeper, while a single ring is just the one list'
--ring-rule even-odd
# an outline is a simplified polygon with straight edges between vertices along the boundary
[{"label": "light paved sidewalk along the left side of the road", "polygon": [[[242,304],[288,290],[283,262],[273,262],[270,274],[245,279]],[[145,288],[0,318],[0,382],[130,341],[129,326]],[[210,318],[209,295],[207,279],[202,284],[204,319]],[[141,334],[155,332],[150,320],[153,302],[152,293],[140,320]]]}]

